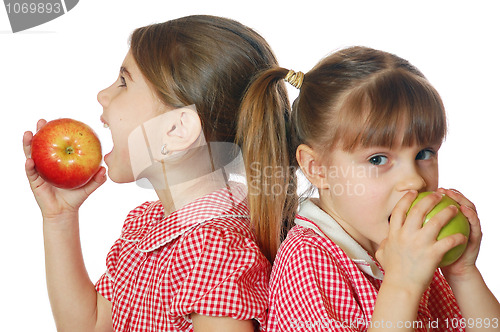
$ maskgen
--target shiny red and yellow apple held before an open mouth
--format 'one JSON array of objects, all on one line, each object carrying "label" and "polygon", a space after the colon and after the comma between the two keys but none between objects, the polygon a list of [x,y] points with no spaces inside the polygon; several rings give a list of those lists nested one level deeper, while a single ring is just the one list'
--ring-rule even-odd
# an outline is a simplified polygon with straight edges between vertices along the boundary
[{"label": "shiny red and yellow apple held before an open mouth", "polygon": [[35,134],[31,158],[45,181],[59,188],[79,188],[100,168],[101,142],[85,123],[57,119]]}]

